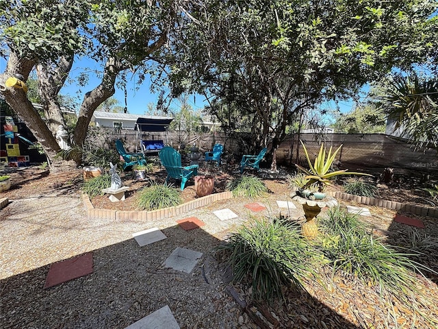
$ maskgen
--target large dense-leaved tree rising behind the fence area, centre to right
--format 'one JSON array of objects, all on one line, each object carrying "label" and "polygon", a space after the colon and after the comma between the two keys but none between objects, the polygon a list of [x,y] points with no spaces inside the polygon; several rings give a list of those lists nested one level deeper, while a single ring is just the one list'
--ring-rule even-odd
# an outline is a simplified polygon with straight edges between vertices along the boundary
[{"label": "large dense-leaved tree rising behind the fence area, centre to right", "polygon": [[426,60],[437,44],[437,20],[430,18],[436,5],[204,1],[192,9],[194,23],[185,31],[193,47],[176,48],[170,86],[175,94],[205,93],[222,110],[237,110],[250,123],[254,147],[269,139],[275,148],[294,114],[353,97],[394,67]]}]

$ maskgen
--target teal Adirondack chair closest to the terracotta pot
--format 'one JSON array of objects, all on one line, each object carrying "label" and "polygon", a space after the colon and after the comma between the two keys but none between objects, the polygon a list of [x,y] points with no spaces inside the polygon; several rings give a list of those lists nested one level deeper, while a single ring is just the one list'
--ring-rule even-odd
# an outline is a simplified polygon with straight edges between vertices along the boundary
[{"label": "teal Adirondack chair closest to the terracotta pot", "polygon": [[181,180],[181,191],[183,191],[185,183],[189,178],[198,175],[198,164],[193,164],[189,167],[182,167],[181,154],[179,154],[179,152],[173,147],[163,147],[158,155],[159,160],[161,160],[167,171],[166,182],[168,182],[170,178]]}]

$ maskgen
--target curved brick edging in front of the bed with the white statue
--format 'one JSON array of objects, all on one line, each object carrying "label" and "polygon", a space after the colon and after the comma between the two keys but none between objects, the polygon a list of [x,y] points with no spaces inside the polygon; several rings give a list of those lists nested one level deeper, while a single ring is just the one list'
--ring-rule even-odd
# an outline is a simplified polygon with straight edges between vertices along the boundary
[{"label": "curved brick edging in front of the bed with the white statue", "polygon": [[231,192],[222,192],[216,194],[199,197],[179,206],[163,208],[159,210],[111,210],[111,209],[96,209],[90,201],[87,194],[82,195],[83,206],[87,212],[88,219],[114,219],[119,221],[155,221],[166,217],[181,215],[190,210],[207,206],[212,202],[230,199],[233,197]]}]

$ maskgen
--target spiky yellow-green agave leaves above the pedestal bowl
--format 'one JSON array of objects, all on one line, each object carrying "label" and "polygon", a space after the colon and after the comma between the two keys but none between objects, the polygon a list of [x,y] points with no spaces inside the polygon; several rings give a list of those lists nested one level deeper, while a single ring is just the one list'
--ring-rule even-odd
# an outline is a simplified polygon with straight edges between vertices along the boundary
[{"label": "spiky yellow-green agave leaves above the pedestal bowl", "polygon": [[325,185],[331,185],[331,178],[339,175],[368,175],[368,173],[355,173],[352,171],[348,171],[348,169],[344,170],[337,170],[330,172],[330,169],[333,165],[333,161],[335,160],[335,157],[337,155],[337,152],[341,149],[342,145],[339,146],[336,151],[332,153],[332,147],[329,149],[329,154],[326,154],[326,149],[324,147],[324,143],[322,143],[320,151],[318,153],[318,156],[315,158],[314,164],[311,163],[311,160],[309,158],[309,153],[307,152],[307,149],[304,145],[304,143],[301,142],[302,148],[305,151],[307,163],[309,164],[309,170],[301,167],[299,164],[295,164],[298,170],[305,173],[306,179],[308,180],[307,184],[305,185],[305,188],[308,188],[309,186],[315,184],[318,186],[318,191],[322,192],[324,190]]}]

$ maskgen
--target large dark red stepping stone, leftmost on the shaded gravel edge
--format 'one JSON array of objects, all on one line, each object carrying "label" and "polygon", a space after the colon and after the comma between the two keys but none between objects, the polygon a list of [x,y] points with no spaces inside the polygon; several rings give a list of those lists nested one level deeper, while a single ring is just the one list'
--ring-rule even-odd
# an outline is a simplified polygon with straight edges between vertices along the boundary
[{"label": "large dark red stepping stone, leftmost on the shaded gravel edge", "polygon": [[67,282],[93,272],[93,254],[89,252],[82,256],[53,263],[47,273],[44,288],[47,289],[57,284]]}]

